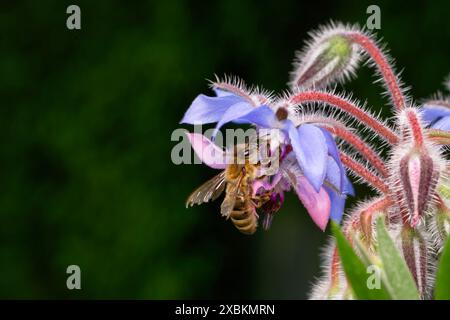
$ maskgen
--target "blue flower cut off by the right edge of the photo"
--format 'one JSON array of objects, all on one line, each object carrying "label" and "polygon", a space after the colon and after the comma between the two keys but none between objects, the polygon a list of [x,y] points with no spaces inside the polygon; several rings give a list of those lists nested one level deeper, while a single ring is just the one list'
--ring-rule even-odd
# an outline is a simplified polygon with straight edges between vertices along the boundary
[{"label": "blue flower cut off by the right edge of the photo", "polygon": [[422,120],[431,128],[450,130],[450,101],[431,101],[421,108]]}]

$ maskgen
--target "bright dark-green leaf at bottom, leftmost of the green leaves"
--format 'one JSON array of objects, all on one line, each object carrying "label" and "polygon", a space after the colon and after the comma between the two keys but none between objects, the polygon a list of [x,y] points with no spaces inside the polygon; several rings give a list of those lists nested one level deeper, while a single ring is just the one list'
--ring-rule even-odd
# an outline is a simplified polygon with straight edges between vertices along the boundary
[{"label": "bright dark-green leaf at bottom, leftmost of the green leaves", "polygon": [[381,286],[380,289],[369,288],[367,285],[369,278],[367,265],[353,251],[339,226],[333,222],[331,227],[336,237],[345,275],[356,297],[361,300],[389,300],[389,293],[384,289],[384,286]]}]

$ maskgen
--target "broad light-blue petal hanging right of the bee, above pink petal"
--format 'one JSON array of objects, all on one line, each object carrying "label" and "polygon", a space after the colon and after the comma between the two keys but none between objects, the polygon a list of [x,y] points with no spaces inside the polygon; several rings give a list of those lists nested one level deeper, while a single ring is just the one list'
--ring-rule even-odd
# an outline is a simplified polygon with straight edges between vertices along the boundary
[{"label": "broad light-blue petal hanging right of the bee, above pink petal", "polygon": [[298,129],[288,120],[292,149],[303,174],[319,192],[325,178],[327,143],[322,131],[314,125],[302,124]]}]

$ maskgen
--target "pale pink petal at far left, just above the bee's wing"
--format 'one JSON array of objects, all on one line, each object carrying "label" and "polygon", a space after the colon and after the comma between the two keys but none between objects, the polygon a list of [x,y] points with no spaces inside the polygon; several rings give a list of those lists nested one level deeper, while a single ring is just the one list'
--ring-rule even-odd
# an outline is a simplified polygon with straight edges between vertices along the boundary
[{"label": "pale pink petal at far left, just above the bee's wing", "polygon": [[199,159],[208,167],[225,169],[226,153],[200,133],[188,133],[187,137]]}]

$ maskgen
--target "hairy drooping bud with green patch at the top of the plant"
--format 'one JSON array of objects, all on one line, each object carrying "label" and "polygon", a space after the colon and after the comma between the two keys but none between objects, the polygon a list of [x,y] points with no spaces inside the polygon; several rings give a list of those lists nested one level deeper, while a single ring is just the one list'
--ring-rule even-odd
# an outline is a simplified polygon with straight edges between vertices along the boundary
[{"label": "hairy drooping bud with green patch at the top of the plant", "polygon": [[331,26],[313,34],[311,43],[294,62],[291,88],[324,88],[354,72],[358,49],[343,31],[341,26]]}]

